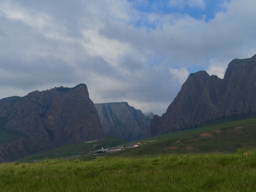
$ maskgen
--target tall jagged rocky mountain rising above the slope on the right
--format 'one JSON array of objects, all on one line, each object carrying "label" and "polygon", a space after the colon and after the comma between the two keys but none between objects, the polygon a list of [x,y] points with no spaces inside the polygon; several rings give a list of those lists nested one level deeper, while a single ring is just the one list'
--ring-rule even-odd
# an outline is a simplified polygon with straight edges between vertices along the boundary
[{"label": "tall jagged rocky mountain rising above the slope on the right", "polygon": [[190,74],[161,117],[151,120],[146,137],[191,129],[207,121],[256,113],[256,55],[234,59],[223,79],[205,71]]}]

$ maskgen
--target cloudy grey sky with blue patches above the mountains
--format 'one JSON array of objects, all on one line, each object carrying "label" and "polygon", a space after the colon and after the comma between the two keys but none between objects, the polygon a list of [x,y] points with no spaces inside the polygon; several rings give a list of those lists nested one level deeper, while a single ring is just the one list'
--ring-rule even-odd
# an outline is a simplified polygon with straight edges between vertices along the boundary
[{"label": "cloudy grey sky with blue patches above the mountains", "polygon": [[85,83],[165,113],[190,73],[256,54],[255,0],[1,0],[0,99]]}]

